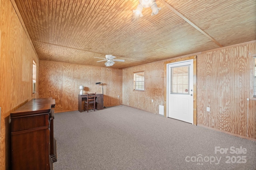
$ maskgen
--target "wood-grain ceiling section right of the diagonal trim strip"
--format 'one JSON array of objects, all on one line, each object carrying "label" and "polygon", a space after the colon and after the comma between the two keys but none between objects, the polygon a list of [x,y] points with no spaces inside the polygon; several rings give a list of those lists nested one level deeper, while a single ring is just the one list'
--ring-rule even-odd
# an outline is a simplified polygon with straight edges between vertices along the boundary
[{"label": "wood-grain ceiling section right of the diagonal trim strip", "polygon": [[[244,35],[248,37],[248,41],[255,40],[255,36],[252,36],[252,33],[256,32],[254,20],[256,12],[251,10],[256,8],[253,0],[225,0],[221,3],[217,1],[216,3],[212,1],[202,3],[193,0],[166,0],[166,2],[224,46],[240,43],[238,41]],[[245,11],[250,12],[244,13]],[[231,17],[232,15],[234,16]],[[244,23],[244,20],[248,23]],[[230,24],[228,26],[221,24],[223,22]],[[250,31],[243,33],[243,30]],[[232,41],[230,41],[231,37],[234,38]]]}]

